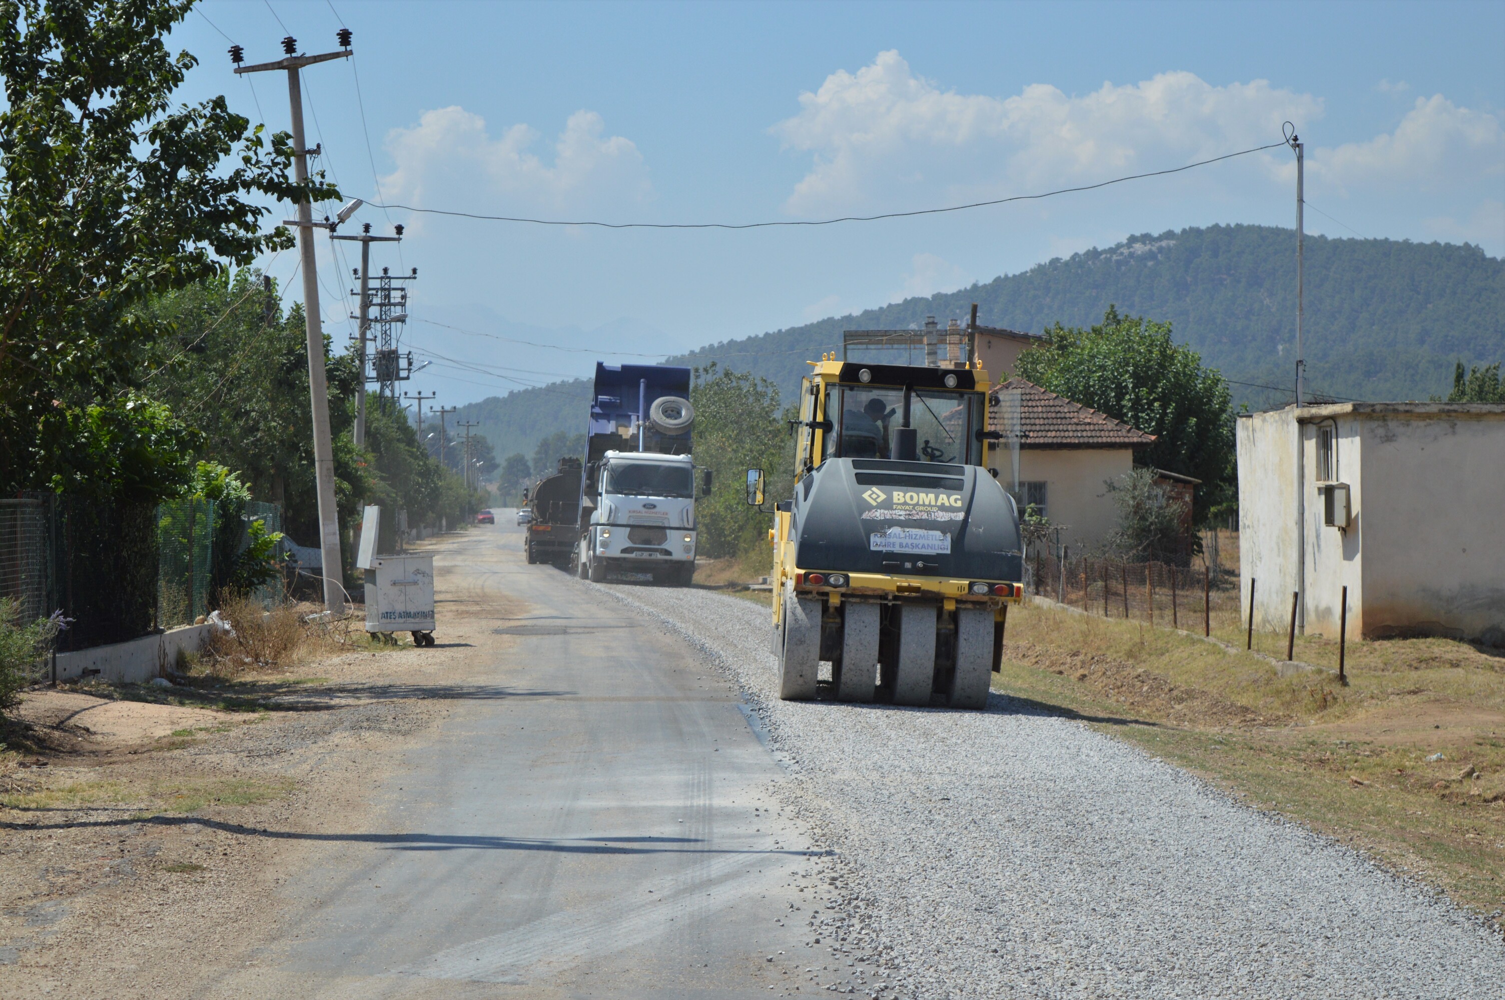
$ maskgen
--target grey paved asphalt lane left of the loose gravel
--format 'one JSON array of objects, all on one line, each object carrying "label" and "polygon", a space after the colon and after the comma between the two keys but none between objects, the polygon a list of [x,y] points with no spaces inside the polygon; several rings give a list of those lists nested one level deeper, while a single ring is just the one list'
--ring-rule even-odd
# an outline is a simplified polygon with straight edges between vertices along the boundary
[{"label": "grey paved asphalt lane left of the loose gravel", "polygon": [[447,591],[500,592],[518,611],[486,633],[510,642],[385,779],[375,829],[330,830],[283,887],[256,974],[211,994],[766,997],[814,956],[792,911],[808,842],[763,812],[783,771],[736,687],[655,621],[527,565],[498,520],[436,559],[436,635]]}]

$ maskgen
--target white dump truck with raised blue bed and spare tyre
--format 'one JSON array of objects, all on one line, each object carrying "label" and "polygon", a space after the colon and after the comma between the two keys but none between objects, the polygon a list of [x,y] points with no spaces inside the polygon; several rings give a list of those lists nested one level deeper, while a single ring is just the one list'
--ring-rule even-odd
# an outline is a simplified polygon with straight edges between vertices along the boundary
[{"label": "white dump truck with raised blue bed and spare tyre", "polygon": [[[688,586],[695,574],[695,472],[689,368],[596,364],[581,477],[579,574],[650,574]],[[697,483],[698,480],[698,483]]]}]

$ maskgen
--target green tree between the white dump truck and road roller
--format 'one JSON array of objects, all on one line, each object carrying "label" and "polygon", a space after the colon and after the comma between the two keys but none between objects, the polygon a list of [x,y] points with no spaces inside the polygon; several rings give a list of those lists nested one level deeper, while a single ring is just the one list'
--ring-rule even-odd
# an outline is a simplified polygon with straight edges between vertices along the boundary
[{"label": "green tree between the white dump truck and road roller", "polygon": [[712,558],[766,555],[769,514],[748,507],[742,484],[748,469],[760,468],[771,501],[793,490],[793,439],[778,386],[712,362],[695,368],[689,402],[695,408],[695,465],[710,469],[715,486],[695,504],[698,550]]}]

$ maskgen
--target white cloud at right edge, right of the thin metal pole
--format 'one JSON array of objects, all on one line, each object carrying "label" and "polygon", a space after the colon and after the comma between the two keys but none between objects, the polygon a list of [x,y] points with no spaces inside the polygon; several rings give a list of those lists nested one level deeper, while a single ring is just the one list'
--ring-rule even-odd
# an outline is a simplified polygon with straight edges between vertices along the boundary
[{"label": "white cloud at right edge, right of the thin metal pole", "polygon": [[[1287,170],[1288,173],[1290,170]],[[1487,111],[1460,108],[1442,95],[1416,98],[1394,132],[1364,143],[1314,149],[1309,177],[1351,188],[1458,192],[1460,185],[1505,177],[1505,131]]]}]

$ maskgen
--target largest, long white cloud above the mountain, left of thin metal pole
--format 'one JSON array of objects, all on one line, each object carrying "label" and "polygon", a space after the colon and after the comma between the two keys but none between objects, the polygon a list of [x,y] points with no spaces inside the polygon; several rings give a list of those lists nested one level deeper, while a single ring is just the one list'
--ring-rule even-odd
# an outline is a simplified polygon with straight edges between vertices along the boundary
[{"label": "largest, long white cloud above the mountain, left of thin metal pole", "polygon": [[1323,111],[1318,98],[1264,80],[1215,87],[1189,72],[1084,96],[1047,84],[1010,98],[960,95],[915,75],[897,51],[831,74],[799,104],[772,129],[814,159],[786,203],[796,214],[1099,180],[1278,140],[1284,120]]}]

